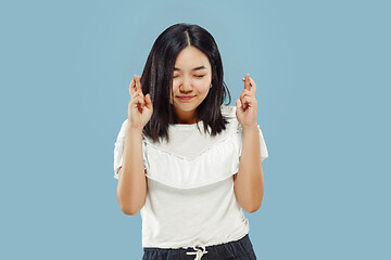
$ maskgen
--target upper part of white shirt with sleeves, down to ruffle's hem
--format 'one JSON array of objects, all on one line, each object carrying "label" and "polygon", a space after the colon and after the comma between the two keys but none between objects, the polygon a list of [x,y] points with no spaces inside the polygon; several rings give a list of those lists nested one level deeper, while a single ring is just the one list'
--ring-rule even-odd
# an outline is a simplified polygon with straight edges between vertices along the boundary
[{"label": "upper part of white shirt with sleeves, down to ruffle's hem", "polygon": [[[236,118],[236,106],[222,106],[228,116],[226,130],[216,136],[201,136],[197,125],[174,125],[169,130],[172,143],[154,143],[142,138],[146,176],[154,181],[177,188],[193,188],[226,180],[239,170],[242,148],[242,128]],[[114,178],[123,162],[127,119],[118,133],[114,150]],[[260,129],[260,126],[258,126]],[[186,142],[191,140],[191,142]],[[261,159],[267,156],[267,148],[260,129]],[[197,148],[195,148],[197,146]],[[192,150],[193,152],[190,152]],[[184,153],[184,151],[186,153]]]}]

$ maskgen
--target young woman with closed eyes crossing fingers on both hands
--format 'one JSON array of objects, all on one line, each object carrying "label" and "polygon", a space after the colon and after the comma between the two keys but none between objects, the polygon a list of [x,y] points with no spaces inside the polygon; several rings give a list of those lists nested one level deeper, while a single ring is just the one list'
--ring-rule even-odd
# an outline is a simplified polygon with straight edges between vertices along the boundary
[{"label": "young woman with closed eyes crossing fingers on both hands", "polygon": [[140,211],[143,260],[256,259],[242,209],[264,193],[268,156],[249,75],[236,106],[212,35],[176,24],[155,40],[129,86],[114,148],[117,199]]}]

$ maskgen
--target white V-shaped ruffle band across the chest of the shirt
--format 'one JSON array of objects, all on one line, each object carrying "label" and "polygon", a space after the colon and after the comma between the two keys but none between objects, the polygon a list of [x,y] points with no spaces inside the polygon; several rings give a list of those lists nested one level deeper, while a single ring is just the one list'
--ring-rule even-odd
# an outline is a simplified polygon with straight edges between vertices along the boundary
[{"label": "white V-shaped ruffle band across the chest of the shirt", "polygon": [[223,181],[239,170],[240,138],[227,134],[190,159],[147,142],[147,177],[178,188],[193,188]]}]

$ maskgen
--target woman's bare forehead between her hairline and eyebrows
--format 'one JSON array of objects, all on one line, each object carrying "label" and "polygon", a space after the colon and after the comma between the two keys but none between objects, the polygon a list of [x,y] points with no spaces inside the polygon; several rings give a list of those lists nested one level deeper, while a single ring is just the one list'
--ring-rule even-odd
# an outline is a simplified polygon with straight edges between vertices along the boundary
[{"label": "woman's bare forehead between her hairline and eyebrows", "polygon": [[211,68],[207,56],[192,46],[186,47],[181,50],[175,61],[175,67],[181,70],[192,69],[200,66],[205,66],[206,69]]}]

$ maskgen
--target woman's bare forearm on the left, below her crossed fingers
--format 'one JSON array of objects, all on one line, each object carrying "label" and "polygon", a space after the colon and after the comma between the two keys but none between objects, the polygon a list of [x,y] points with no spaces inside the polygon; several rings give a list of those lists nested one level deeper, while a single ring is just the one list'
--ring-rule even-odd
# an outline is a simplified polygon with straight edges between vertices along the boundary
[{"label": "woman's bare forearm on the left, below her crossed fingers", "polygon": [[139,130],[128,128],[125,136],[124,158],[119,171],[117,199],[126,214],[136,214],[144,205],[147,180],[142,158],[142,136]]}]

